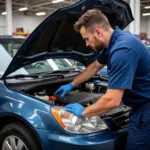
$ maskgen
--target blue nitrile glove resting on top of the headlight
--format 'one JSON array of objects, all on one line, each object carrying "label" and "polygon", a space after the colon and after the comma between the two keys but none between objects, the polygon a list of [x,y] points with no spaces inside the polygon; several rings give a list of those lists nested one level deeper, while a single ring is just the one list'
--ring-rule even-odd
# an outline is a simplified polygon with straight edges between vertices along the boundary
[{"label": "blue nitrile glove resting on top of the headlight", "polygon": [[83,117],[82,115],[83,109],[84,107],[78,103],[69,104],[66,106],[66,111],[71,112],[72,114],[78,117]]}]

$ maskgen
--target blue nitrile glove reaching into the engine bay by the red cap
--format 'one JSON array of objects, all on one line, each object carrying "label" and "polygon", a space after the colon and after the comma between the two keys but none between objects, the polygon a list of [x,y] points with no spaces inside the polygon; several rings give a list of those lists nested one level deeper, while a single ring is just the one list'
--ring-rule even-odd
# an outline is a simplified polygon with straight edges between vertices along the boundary
[{"label": "blue nitrile glove reaching into the engine bay by the red cap", "polygon": [[56,95],[57,93],[61,92],[61,97],[64,97],[64,95],[68,92],[70,92],[72,89],[74,88],[74,86],[72,85],[72,83],[69,84],[65,84],[63,86],[61,86],[55,93],[54,95]]}]

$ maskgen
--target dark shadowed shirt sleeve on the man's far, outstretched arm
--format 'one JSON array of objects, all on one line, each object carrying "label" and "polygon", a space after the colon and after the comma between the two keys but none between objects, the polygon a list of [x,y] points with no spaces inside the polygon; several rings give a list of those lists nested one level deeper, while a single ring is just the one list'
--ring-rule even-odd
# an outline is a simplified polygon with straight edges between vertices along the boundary
[{"label": "dark shadowed shirt sleeve on the man's far, outstretched arm", "polygon": [[102,52],[99,54],[99,56],[97,57],[97,61],[100,63],[100,64],[107,64],[107,49],[103,49]]}]

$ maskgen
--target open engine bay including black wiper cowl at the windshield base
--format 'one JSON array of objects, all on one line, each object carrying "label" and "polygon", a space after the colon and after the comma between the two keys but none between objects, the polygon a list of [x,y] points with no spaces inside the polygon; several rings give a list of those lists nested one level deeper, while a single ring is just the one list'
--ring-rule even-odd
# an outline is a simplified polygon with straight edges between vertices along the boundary
[{"label": "open engine bay including black wiper cowl at the windshield base", "polygon": [[[42,74],[39,78],[35,79],[7,79],[7,84],[10,88],[22,91],[38,99],[55,103],[55,105],[59,106],[65,106],[69,103],[80,103],[84,106],[91,105],[107,90],[107,82],[100,80],[98,76],[82,83],[64,97],[61,97],[60,94],[54,95],[60,86],[71,82],[78,74],[78,71],[66,71],[61,74]],[[55,102],[53,99],[55,99]]]}]

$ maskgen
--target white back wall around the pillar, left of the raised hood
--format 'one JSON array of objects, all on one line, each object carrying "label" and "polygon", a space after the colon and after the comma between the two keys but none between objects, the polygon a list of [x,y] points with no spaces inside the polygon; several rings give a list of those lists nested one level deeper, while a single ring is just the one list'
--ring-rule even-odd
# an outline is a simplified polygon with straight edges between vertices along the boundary
[{"label": "white back wall around the pillar, left of the raised hood", "polygon": [[[36,15],[25,16],[22,12],[13,13],[13,32],[16,31],[16,28],[24,28],[25,32],[31,33],[46,17]],[[0,34],[6,34],[5,23],[5,16],[0,15]]]}]

